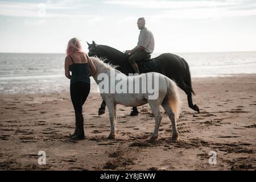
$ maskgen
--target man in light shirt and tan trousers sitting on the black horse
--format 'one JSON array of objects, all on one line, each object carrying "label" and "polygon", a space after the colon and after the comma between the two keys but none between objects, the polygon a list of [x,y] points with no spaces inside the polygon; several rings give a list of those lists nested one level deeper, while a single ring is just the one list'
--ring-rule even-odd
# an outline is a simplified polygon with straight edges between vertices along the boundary
[{"label": "man in light shirt and tan trousers sitting on the black horse", "polygon": [[136,47],[131,50],[125,51],[129,55],[129,63],[134,69],[135,73],[139,75],[139,68],[136,61],[147,59],[150,54],[154,51],[155,41],[154,36],[150,30],[145,27],[145,19],[139,18],[137,25],[139,30],[139,41]]}]

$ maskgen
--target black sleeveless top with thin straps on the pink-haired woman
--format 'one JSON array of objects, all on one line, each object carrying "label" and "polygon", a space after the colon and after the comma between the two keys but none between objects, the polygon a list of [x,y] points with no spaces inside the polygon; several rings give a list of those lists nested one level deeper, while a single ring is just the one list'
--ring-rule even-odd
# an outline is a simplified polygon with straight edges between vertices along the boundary
[{"label": "black sleeveless top with thin straps on the pink-haired woman", "polygon": [[[69,55],[71,57],[71,55]],[[88,63],[75,63],[73,58],[71,60],[73,64],[69,65],[69,70],[72,72],[70,84],[77,81],[84,81],[90,84],[90,77],[88,72],[89,67],[89,57],[86,55]]]}]

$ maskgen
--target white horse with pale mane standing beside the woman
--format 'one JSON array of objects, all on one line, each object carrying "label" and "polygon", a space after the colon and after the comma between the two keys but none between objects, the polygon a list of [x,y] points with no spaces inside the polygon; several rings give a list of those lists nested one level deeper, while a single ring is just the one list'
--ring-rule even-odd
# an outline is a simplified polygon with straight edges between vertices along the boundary
[{"label": "white horse with pale mane standing beside the woman", "polygon": [[[149,104],[152,114],[154,114],[155,118],[155,130],[154,134],[150,138],[150,141],[156,140],[158,138],[158,131],[159,126],[162,120],[162,116],[160,114],[160,105],[163,106],[164,110],[166,111],[172,125],[172,140],[178,139],[178,131],[176,126],[176,121],[179,118],[179,111],[180,111],[180,98],[177,90],[177,85],[174,81],[172,81],[170,78],[160,74],[160,73],[145,73],[142,75],[137,76],[126,76],[123,73],[117,71],[109,64],[104,63],[104,60],[99,59],[98,57],[91,57],[95,67],[97,68],[96,74],[93,76],[96,83],[101,85],[102,81],[102,75],[107,75],[109,78],[109,82],[114,83],[114,86],[117,86],[119,80],[115,79],[114,77],[111,77],[111,74],[113,76],[113,72],[115,75],[118,75],[120,80],[122,82],[126,82],[127,87],[133,88],[133,83],[138,81],[139,79],[142,80],[142,77],[147,76],[148,74],[151,74],[155,77],[158,77],[158,97],[154,100],[150,99],[150,94],[148,92],[146,93],[103,93],[100,88],[100,94],[103,100],[106,102],[106,105],[109,109],[109,119],[111,123],[111,131],[109,135],[109,139],[115,138],[115,135],[117,134],[117,104],[122,104],[125,106],[141,106],[144,104]],[[104,73],[104,74],[101,74]],[[113,81],[114,80],[114,81]],[[138,81],[139,82],[139,81]],[[137,83],[138,83],[137,82]],[[152,83],[151,83],[152,84]],[[106,85],[105,85],[106,86]],[[112,85],[113,86],[113,85]],[[135,85],[135,87],[142,87],[142,83],[140,85]]]}]

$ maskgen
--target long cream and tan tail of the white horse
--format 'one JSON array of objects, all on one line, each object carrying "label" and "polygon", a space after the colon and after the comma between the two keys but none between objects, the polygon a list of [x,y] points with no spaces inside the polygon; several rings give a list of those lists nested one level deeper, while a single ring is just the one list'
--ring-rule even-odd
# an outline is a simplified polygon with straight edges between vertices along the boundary
[{"label": "long cream and tan tail of the white horse", "polygon": [[175,119],[177,120],[180,115],[180,96],[177,85],[170,78],[166,78],[167,83],[167,94],[164,98],[165,102],[168,102],[168,105],[171,107],[172,111],[175,114]]}]

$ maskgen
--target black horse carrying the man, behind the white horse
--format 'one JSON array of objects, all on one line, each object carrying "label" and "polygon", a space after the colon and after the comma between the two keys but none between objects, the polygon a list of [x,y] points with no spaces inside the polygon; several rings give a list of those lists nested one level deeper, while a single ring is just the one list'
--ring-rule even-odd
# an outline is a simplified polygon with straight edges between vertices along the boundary
[{"label": "black horse carrying the man, behind the white horse", "polygon": [[[134,73],[133,68],[128,62],[128,55],[118,51],[109,46],[97,45],[93,41],[92,44],[88,44],[89,56],[98,56],[106,58],[106,63],[113,65],[118,65],[116,69],[129,75],[129,73]],[[137,61],[139,72],[158,72],[166,75],[167,77],[174,80],[186,94],[188,98],[188,106],[199,113],[199,107],[193,104],[192,94],[195,95],[195,92],[192,89],[191,85],[191,76],[189,72],[189,66],[187,61],[182,57],[174,55],[172,53],[163,53],[162,55],[155,57],[154,59],[146,59]],[[105,113],[106,103],[102,101],[101,107],[98,110],[98,115]],[[133,107],[131,115],[138,115],[137,107]]]}]

